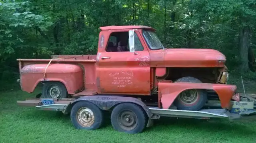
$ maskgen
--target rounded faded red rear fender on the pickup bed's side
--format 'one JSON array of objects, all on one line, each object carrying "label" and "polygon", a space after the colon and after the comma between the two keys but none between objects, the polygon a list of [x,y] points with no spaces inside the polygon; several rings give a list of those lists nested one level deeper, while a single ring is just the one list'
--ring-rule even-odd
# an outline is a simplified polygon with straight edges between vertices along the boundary
[{"label": "rounded faded red rear fender on the pickup bed's side", "polygon": [[68,94],[75,94],[84,88],[83,70],[78,65],[53,63],[26,65],[20,71],[20,86],[22,90],[31,93],[39,82],[62,82]]}]

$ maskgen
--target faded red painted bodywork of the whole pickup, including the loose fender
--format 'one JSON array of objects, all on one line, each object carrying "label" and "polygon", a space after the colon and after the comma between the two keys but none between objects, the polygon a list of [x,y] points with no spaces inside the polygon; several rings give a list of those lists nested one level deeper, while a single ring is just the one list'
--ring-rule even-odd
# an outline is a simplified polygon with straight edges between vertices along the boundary
[{"label": "faded red painted bodywork of the whole pickup, including the loose fender", "polygon": [[[106,26],[100,29],[102,31],[99,33],[97,55],[53,55],[54,60],[47,68],[46,79],[64,83],[69,94],[79,96],[97,93],[148,96],[158,87],[159,106],[162,104],[164,108],[168,108],[183,90],[213,89],[219,95],[222,107],[228,106],[235,86],[158,81],[164,79],[165,74],[166,77],[172,76],[173,73],[169,73],[170,68],[213,67],[220,71],[212,74],[213,79],[218,83],[221,72],[226,71],[224,68],[226,57],[222,53],[212,49],[151,50],[142,32],[155,31],[155,29],[147,26]],[[136,29],[134,32],[138,35],[143,51],[106,52],[111,33],[128,32],[133,29]],[[18,59],[18,61],[22,90],[33,92],[37,83],[43,80],[44,69],[50,59]],[[71,67],[78,71],[72,71]],[[182,74],[180,75],[182,77]],[[157,79],[156,76],[161,77]],[[84,91],[76,93],[81,89]]]}]

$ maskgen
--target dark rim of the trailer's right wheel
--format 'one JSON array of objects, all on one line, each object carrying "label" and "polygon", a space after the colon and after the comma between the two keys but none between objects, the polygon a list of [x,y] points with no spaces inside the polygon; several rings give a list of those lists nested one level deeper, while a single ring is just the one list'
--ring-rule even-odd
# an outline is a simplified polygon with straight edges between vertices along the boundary
[{"label": "dark rim of the trailer's right wheel", "polygon": [[134,112],[125,110],[118,115],[118,123],[122,129],[130,131],[138,125],[138,118]]}]

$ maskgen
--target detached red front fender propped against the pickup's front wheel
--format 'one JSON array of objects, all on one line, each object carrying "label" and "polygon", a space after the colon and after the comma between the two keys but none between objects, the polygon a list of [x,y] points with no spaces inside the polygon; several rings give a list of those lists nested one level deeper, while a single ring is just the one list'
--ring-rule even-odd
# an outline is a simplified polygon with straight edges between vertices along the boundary
[{"label": "detached red front fender propped against the pickup's front wheel", "polygon": [[[214,90],[219,98],[221,107],[230,108],[230,100],[236,90],[235,85],[228,84],[210,84],[210,83],[191,83],[191,82],[159,82],[158,83],[158,101],[162,108],[168,109],[176,97],[184,90],[188,89],[208,89]],[[161,108],[160,104],[158,105]]]}]

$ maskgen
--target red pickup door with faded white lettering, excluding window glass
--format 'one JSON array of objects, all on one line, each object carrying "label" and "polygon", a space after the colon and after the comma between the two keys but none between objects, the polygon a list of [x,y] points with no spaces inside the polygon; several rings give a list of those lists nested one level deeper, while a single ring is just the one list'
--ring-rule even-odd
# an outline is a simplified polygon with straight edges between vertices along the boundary
[{"label": "red pickup door with faded white lettering, excluding window glass", "polygon": [[[101,35],[109,37],[113,31],[101,31]],[[128,32],[129,29],[118,30]],[[140,35],[139,31],[136,31]],[[142,41],[142,37],[139,37]],[[148,49],[137,51],[136,55],[127,52],[106,52],[108,38],[99,43],[96,61],[96,78],[98,93],[140,94],[150,95],[150,55]],[[142,42],[145,47],[145,43]],[[103,47],[103,48],[101,48]],[[143,88],[141,88],[143,87]],[[131,92],[132,91],[132,92]]]}]

